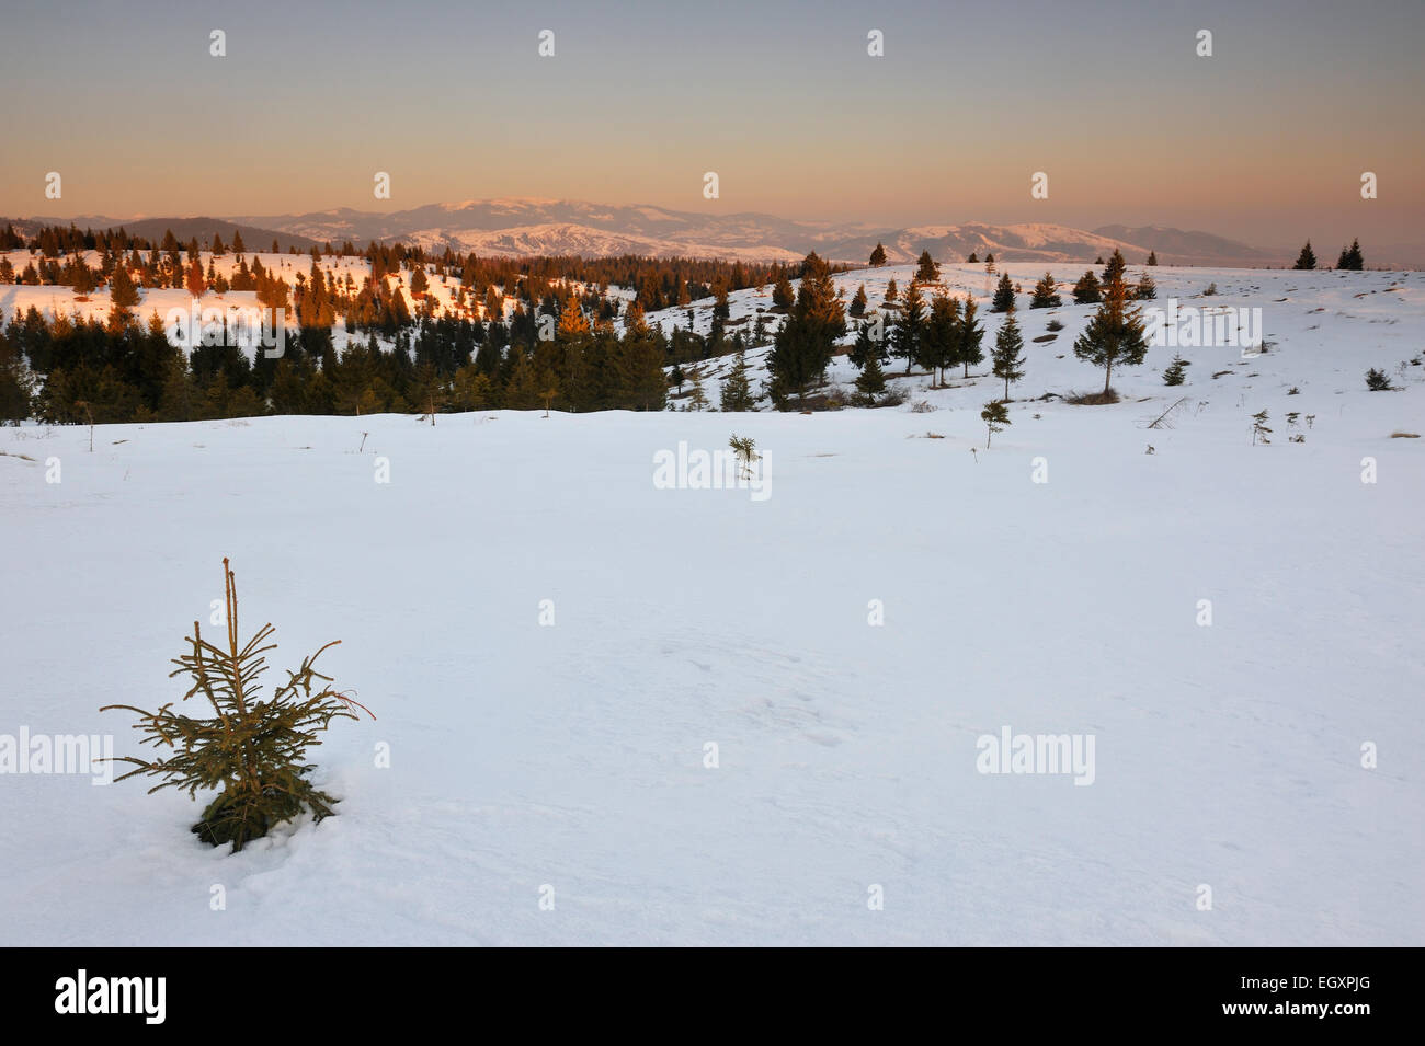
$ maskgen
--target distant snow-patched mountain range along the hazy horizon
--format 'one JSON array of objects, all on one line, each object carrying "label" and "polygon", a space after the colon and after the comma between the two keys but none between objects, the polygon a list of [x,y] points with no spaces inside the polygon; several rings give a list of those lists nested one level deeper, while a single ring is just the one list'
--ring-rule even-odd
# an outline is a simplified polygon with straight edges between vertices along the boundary
[{"label": "distant snow-patched mountain range along the hazy horizon", "polygon": [[[27,232],[56,219],[13,221]],[[430,204],[409,211],[375,213],[341,208],[302,215],[242,215],[228,218],[117,219],[84,215],[78,228],[118,228],[160,239],[165,229],[188,242],[225,243],[242,232],[249,250],[306,250],[315,243],[356,246],[376,242],[419,243],[429,250],[517,258],[529,255],[656,255],[798,260],[809,250],[832,262],[865,263],[872,248],[885,246],[891,262],[913,262],[922,250],[938,260],[962,259],[972,250],[1002,260],[1092,262],[1114,249],[1133,263],[1156,250],[1164,265],[1254,266],[1282,265],[1281,250],[1261,250],[1206,232],[1154,225],[1104,225],[1093,231],[1042,222],[1020,225],[919,225],[889,228],[866,223],[802,222],[764,213],[705,215],[658,206],[604,205],[569,199],[479,199]]]}]

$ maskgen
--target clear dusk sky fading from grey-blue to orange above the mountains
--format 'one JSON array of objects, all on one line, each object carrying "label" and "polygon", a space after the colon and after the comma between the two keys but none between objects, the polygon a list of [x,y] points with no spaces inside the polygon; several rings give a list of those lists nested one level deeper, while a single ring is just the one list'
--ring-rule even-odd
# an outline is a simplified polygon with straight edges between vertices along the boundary
[{"label": "clear dusk sky fading from grey-blue to orange above the mountains", "polygon": [[1159,223],[1322,253],[1425,239],[1422,0],[10,0],[0,30],[6,215],[557,196]]}]

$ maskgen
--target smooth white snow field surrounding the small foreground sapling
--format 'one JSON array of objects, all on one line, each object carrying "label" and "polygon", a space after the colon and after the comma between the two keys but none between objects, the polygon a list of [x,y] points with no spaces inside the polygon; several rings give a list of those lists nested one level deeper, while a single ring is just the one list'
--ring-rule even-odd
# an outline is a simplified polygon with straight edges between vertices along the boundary
[{"label": "smooth white snow field surrounding the small foreground sapling", "polygon": [[[1322,305],[1338,337],[1268,315],[1181,390],[1154,349],[1119,406],[1027,401],[1102,381],[1074,320],[989,451],[983,367],[928,414],[0,430],[0,734],[140,751],[97,709],[182,693],[224,555],[272,676],[339,638],[379,717],[312,750],[338,817],[235,855],[137,778],[0,776],[0,942],[1419,945],[1421,369],[1361,380],[1421,350],[1419,283]],[[767,500],[654,487],[734,431]],[[978,773],[1006,726],[1093,734],[1093,784]]]}]

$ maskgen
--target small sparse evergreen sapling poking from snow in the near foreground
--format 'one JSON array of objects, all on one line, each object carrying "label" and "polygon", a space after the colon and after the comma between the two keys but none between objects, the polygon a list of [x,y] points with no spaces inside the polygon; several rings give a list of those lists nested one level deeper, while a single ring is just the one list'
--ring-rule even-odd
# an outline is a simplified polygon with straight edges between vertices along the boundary
[{"label": "small sparse evergreen sapling poking from snow in the near foreground", "polygon": [[117,757],[114,761],[133,763],[135,768],[115,780],[135,774],[158,777],[162,780],[150,793],[178,788],[191,798],[197,798],[200,788],[221,788],[192,831],[204,842],[231,842],[238,851],[304,810],[311,810],[316,821],[335,813],[332,804],[336,800],[308,780],[316,767],[305,761],[306,749],[321,744],[318,734],[333,719],[358,719],[353,709],[362,706],[333,690],[331,676],[312,667],[323,650],[341,640],[305,657],[296,672],[286,673],[285,683],[274,687],[269,700],[259,700],[258,677],[266,670],[262,655],[276,648],[276,643],[264,640],[274,629],[264,625],[245,646],[238,646],[238,593],[227,559],[222,561],[222,575],[227,648],[207,642],[198,622],[194,622],[192,636],[187,640],[191,650],[174,659],[178,667],[170,673],[187,675],[192,686],[184,700],[204,696],[214,716],[184,716],[172,710],[171,702],[158,712],[133,704],[107,704],[100,712],[125,709],[138,713],[140,722],[134,729],[144,734],[141,743],[171,751],[167,759],[152,761]]}]

